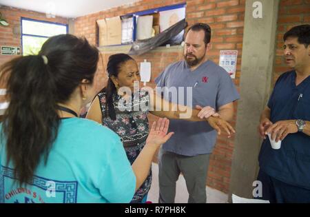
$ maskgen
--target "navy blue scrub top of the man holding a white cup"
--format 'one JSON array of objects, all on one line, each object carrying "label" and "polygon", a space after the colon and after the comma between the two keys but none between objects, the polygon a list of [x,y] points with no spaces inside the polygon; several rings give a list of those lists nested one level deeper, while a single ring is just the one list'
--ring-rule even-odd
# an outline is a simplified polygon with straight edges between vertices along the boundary
[{"label": "navy blue scrub top of the man holding a white cup", "polygon": [[[310,76],[296,86],[296,72],[282,74],[268,102],[270,121],[310,121]],[[288,134],[280,149],[272,149],[266,138],[260,149],[260,169],[290,185],[310,189],[310,136]]]}]

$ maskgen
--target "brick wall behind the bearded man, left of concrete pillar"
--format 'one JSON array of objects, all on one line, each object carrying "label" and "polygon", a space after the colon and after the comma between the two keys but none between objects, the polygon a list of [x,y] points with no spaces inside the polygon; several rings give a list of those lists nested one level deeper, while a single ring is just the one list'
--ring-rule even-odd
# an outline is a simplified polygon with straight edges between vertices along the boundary
[{"label": "brick wall behind the bearded man, left of concrete pillar", "polygon": [[[131,12],[158,8],[162,6],[170,6],[177,3],[187,3],[186,19],[189,25],[196,22],[209,23],[212,30],[212,49],[208,53],[209,58],[218,63],[220,50],[238,50],[238,65],[236,79],[234,82],[236,86],[239,85],[240,79],[240,65],[242,55],[242,34],[245,13],[245,0],[166,0],[166,1],[138,1],[130,6],[122,6],[112,8],[103,12],[89,14],[85,17],[75,19],[74,34],[85,36],[90,43],[96,43],[96,20],[107,17],[114,17],[124,15]],[[104,64],[107,63],[109,53],[103,53]],[[162,72],[169,63],[183,59],[183,51],[169,52],[165,51],[147,52],[142,56],[133,56],[136,61],[141,62],[147,59],[152,63],[152,85],[154,85],[154,78]],[[101,72],[96,78],[97,89],[100,90],[106,81],[105,72]],[[237,105],[236,105],[237,106]],[[237,108],[237,107],[236,107]],[[149,120],[154,121],[156,118],[150,115]],[[235,125],[236,116],[233,121]],[[222,192],[228,192],[229,178],[231,171],[231,156],[234,149],[234,138],[227,138],[219,136],[211,155],[209,165],[209,175],[207,178],[207,185],[214,187]],[[154,159],[156,161],[156,159]]]}]

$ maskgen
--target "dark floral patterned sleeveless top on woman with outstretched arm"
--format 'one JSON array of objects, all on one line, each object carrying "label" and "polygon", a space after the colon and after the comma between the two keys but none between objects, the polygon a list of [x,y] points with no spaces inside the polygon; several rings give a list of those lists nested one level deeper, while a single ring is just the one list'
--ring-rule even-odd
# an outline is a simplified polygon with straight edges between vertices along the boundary
[{"label": "dark floral patterned sleeveless top on woman with outstretched arm", "polygon": [[[116,113],[116,120],[112,120],[105,110],[106,93],[98,94],[103,116],[103,125],[109,127],[121,137],[127,158],[130,164],[134,163],[136,157],[145,146],[145,141],[149,134],[149,121],[147,114],[149,112],[149,95],[147,92],[140,91],[133,94],[131,100],[125,101],[120,95],[114,94],[113,105]],[[149,192],[152,183],[152,170],[145,182],[134,194],[131,203],[141,203],[141,200]]]}]

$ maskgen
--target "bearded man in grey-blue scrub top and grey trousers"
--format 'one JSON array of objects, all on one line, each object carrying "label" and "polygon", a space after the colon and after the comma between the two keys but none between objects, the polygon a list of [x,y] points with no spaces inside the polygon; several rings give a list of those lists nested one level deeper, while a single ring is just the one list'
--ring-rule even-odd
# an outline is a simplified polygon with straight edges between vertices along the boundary
[{"label": "bearded man in grey-blue scrub top and grey trousers", "polygon": [[[210,39],[209,25],[192,25],[185,38],[185,60],[169,65],[155,82],[158,87],[166,87],[164,91],[178,93],[178,97],[172,97],[164,92],[166,100],[201,109],[202,116],[216,110],[225,121],[231,121],[233,102],[239,99],[239,94],[229,74],[207,58]],[[187,90],[192,91],[192,102],[180,102],[184,92],[188,94]],[[216,131],[207,122],[183,120],[171,120],[169,131],[174,132],[174,136],[161,147],[158,155],[159,202],[174,203],[176,180],[182,173],[189,192],[188,202],[206,203],[207,168],[216,143]]]}]

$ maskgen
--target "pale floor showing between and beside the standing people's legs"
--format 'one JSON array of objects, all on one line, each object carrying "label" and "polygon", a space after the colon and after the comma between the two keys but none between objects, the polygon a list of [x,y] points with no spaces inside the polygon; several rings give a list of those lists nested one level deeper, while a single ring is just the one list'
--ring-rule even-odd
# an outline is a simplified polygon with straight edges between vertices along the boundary
[{"label": "pale floor showing between and beside the standing people's legs", "polygon": [[[147,200],[152,203],[158,203],[158,165],[152,163],[153,181]],[[216,189],[206,187],[207,203],[227,203],[228,195]],[[176,182],[176,199],[175,203],[187,203],[188,193],[183,176],[178,178]]]}]

